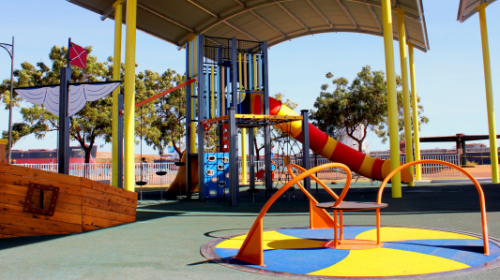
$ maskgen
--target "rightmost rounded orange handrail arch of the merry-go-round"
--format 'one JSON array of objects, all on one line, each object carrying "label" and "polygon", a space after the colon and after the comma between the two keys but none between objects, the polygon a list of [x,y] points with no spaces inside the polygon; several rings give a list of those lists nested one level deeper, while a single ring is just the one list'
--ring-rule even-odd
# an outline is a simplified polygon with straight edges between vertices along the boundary
[{"label": "rightmost rounded orange handrail arch of the merry-go-round", "polygon": [[483,189],[481,188],[481,185],[476,180],[476,178],[474,178],[469,172],[465,171],[465,169],[463,169],[457,165],[454,165],[454,164],[446,162],[446,161],[434,160],[434,159],[417,160],[417,161],[403,164],[403,165],[399,166],[398,168],[394,169],[391,173],[389,173],[389,175],[387,175],[387,177],[385,177],[384,181],[382,182],[382,184],[380,185],[380,188],[378,190],[377,204],[382,203],[382,193],[384,192],[384,188],[387,185],[387,183],[389,182],[389,180],[391,180],[391,178],[396,173],[398,173],[399,171],[401,171],[407,167],[410,167],[413,165],[418,165],[418,164],[423,164],[423,163],[441,164],[441,165],[445,165],[445,166],[457,169],[458,171],[465,174],[465,176],[467,176],[472,181],[472,183],[474,183],[474,185],[476,186],[477,192],[479,193],[479,204],[480,204],[480,208],[481,208],[481,223],[482,223],[482,227],[483,227],[484,255],[489,256],[490,255],[490,246],[489,246],[489,242],[488,242],[488,221],[486,218],[486,202],[484,199]]}]

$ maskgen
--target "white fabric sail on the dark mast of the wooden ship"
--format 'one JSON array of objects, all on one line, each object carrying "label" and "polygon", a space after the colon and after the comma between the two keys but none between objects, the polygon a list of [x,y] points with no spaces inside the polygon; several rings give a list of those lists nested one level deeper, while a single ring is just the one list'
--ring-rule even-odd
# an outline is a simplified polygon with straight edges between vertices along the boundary
[{"label": "white fabric sail on the dark mast of the wooden ship", "polygon": [[[120,82],[81,84],[69,86],[68,117],[78,113],[87,101],[96,101],[115,90]],[[43,105],[47,111],[59,116],[59,86],[16,89],[26,101]]]}]

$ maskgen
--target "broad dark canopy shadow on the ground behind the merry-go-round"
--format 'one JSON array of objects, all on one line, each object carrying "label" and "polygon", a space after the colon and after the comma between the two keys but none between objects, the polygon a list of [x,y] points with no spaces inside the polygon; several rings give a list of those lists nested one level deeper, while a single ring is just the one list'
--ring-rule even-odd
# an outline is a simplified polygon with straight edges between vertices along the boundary
[{"label": "broad dark canopy shadow on the ground behind the merry-go-round", "polygon": [[[333,186],[333,190],[339,194],[342,187],[342,184],[335,185]],[[487,211],[500,211],[500,185],[483,183],[482,188],[486,197]],[[141,208],[141,211],[166,211],[164,214],[170,211],[177,214],[186,212],[206,212],[207,214],[213,213],[214,215],[217,215],[217,213],[232,213],[232,215],[257,214],[268,199],[265,191],[261,189],[252,199],[252,196],[246,189],[247,187],[241,188],[237,206],[229,206],[228,198],[211,199],[205,202],[199,200],[180,200],[145,206]],[[347,193],[345,200],[374,202],[377,198],[377,192],[378,187],[375,186],[352,188]],[[382,212],[389,215],[479,212],[479,195],[473,184],[428,184],[416,187],[403,187],[402,198],[392,198],[391,192],[392,190],[389,185],[384,190],[382,198],[384,203],[389,204],[389,207],[382,209]],[[332,201],[332,198],[326,191],[320,189],[316,192],[314,184],[311,194],[319,202]],[[159,199],[159,197],[160,191],[143,194],[143,198],[148,200]],[[296,189],[281,196],[273,204],[269,213],[287,213],[287,215],[290,215],[293,213],[307,214],[308,211],[308,203],[304,200],[304,195],[299,189]],[[149,213],[143,214],[142,212],[138,212],[138,220],[143,219],[143,215],[145,219],[151,217]],[[157,215],[161,217],[162,214]]]}]

